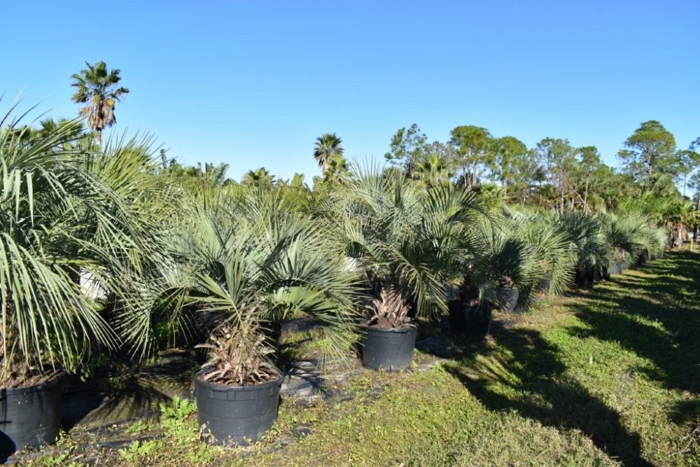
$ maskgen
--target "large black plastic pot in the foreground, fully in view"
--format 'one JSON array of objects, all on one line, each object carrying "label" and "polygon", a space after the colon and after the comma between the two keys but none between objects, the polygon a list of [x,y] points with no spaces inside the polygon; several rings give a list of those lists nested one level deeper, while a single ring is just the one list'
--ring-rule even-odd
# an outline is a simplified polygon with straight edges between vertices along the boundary
[{"label": "large black plastic pot in the foreground, fully in view", "polygon": [[283,376],[255,386],[224,386],[202,381],[195,373],[197,419],[216,444],[250,445],[272,428],[277,418]]}]

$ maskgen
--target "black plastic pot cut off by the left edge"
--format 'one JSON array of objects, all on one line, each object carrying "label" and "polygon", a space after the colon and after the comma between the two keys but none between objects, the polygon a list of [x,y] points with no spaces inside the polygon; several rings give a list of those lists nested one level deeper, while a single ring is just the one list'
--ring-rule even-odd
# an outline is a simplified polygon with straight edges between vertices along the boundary
[{"label": "black plastic pot cut off by the left edge", "polygon": [[59,376],[34,386],[0,389],[0,461],[19,449],[56,441],[62,381]]}]

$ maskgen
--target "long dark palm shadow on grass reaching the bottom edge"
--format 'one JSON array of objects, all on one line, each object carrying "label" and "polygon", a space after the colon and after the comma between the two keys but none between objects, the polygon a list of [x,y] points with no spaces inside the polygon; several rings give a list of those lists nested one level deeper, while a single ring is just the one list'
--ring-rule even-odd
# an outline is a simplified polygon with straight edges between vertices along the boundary
[{"label": "long dark palm shadow on grass reaching the bottom edge", "polygon": [[625,465],[651,465],[640,456],[639,436],[626,431],[619,414],[563,377],[561,351],[538,331],[502,328],[491,338],[496,346],[481,349],[466,365],[447,365],[484,406],[516,410],[545,426],[580,430]]}]

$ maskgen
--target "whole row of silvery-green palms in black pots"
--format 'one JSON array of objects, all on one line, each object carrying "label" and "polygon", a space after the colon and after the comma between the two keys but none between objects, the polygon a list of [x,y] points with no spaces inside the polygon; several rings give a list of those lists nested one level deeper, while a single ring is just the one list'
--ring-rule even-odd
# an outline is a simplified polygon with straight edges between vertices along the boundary
[{"label": "whole row of silvery-green palms in black pots", "polygon": [[95,351],[143,358],[204,328],[200,424],[252,442],[276,417],[285,319],[320,323],[327,356],[361,334],[367,367],[399,370],[417,316],[447,313],[454,334],[484,335],[493,309],[605,277],[615,252],[631,265],[663,251],[639,216],[493,209],[476,188],[393,169],[360,169],[304,205],[272,187],[183,185],[158,171],[148,140],[97,151],[76,123],[0,126],[5,453],[52,442],[59,375]]}]

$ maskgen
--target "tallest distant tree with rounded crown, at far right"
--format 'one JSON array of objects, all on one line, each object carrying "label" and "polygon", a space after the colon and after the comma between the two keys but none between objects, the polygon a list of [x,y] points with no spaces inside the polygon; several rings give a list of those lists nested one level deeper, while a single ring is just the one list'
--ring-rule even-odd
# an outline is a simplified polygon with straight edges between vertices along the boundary
[{"label": "tallest distant tree with rounded crown, at far right", "polygon": [[624,142],[627,149],[619,151],[617,157],[622,161],[626,172],[637,181],[645,183],[647,188],[664,173],[672,172],[678,167],[675,154],[675,138],[656,120],[648,120]]}]

